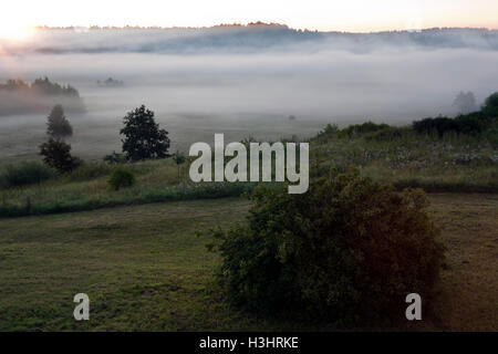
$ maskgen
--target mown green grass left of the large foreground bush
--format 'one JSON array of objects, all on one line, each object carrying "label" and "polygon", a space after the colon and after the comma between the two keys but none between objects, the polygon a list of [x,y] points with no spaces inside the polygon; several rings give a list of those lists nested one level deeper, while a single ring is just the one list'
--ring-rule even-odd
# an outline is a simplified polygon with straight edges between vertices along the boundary
[{"label": "mown green grass left of the large foreground bush", "polygon": [[[210,293],[217,256],[195,235],[241,220],[247,206],[218,199],[0,221],[0,331],[274,329]],[[72,316],[77,292],[91,299],[89,322]]]}]

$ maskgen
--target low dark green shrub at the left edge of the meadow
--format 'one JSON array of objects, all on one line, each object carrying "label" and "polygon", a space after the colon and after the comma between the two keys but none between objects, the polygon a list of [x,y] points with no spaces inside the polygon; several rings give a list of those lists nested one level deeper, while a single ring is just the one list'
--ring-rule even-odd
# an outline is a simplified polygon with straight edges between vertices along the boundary
[{"label": "low dark green shrub at the left edge of the meadow", "polygon": [[0,187],[9,188],[39,184],[55,176],[56,170],[37,162],[9,165],[0,175]]}]

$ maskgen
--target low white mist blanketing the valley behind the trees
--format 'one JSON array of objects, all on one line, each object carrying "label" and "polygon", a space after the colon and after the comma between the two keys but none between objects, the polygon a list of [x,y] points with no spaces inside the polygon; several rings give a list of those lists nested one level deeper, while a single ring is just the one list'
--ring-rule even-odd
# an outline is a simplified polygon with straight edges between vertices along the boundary
[{"label": "low white mist blanketing the valley behind the trees", "polygon": [[[120,150],[122,117],[141,104],[155,111],[169,131],[173,149],[187,149],[197,140],[211,142],[214,133],[230,139],[276,139],[310,136],[326,123],[404,124],[453,115],[452,103],[459,91],[474,92],[481,103],[498,90],[496,32],[479,37],[470,31],[475,38],[467,33],[463,41],[460,33],[430,45],[409,40],[412,34],[406,40],[406,32],[400,38],[391,34],[391,41],[378,41],[375,34],[370,41],[367,34],[336,41],[321,33],[313,38],[314,32],[305,40],[286,34],[281,41],[273,38],[271,45],[261,40],[264,46],[242,45],[243,41],[234,42],[234,35],[224,43],[211,35],[210,46],[190,51],[186,46],[191,46],[194,34],[184,35],[185,44],[178,35],[164,32],[169,41],[165,43],[175,43],[175,51],[173,44],[158,46],[158,30],[128,32],[133,33],[128,42],[122,32],[131,30],[117,31],[114,41],[116,31],[111,30],[94,37],[92,31],[83,37],[70,30],[50,31],[54,30],[35,34],[43,41],[11,44],[10,53],[0,51],[0,81],[48,76],[76,87],[87,112],[68,117],[74,127],[73,150],[85,156]],[[197,41],[198,37],[196,32]],[[446,38],[452,39],[447,33]],[[138,45],[145,42],[146,51]],[[151,43],[156,43],[156,51]],[[257,37],[251,43],[258,43]],[[102,84],[107,77],[123,85]],[[45,138],[48,114],[0,116],[0,157],[35,154]]]}]

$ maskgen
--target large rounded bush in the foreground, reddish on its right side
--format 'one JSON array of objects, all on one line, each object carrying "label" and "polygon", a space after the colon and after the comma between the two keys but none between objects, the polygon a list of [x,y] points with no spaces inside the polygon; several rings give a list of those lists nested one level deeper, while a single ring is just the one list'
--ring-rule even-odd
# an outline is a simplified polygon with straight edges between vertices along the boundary
[{"label": "large rounded bush in the foreground, reddish on its right side", "polygon": [[444,256],[422,190],[332,171],[304,195],[261,185],[251,199],[247,225],[210,244],[229,303],[353,323],[402,319],[408,293],[434,295]]}]

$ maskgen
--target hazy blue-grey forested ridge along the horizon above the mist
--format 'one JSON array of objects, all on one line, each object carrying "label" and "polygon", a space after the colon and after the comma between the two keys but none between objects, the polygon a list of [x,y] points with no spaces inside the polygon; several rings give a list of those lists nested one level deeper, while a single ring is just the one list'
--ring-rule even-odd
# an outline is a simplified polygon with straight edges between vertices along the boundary
[{"label": "hazy blue-grey forested ridge along the horizon above the mist", "polygon": [[9,48],[9,43],[3,45],[10,53],[253,52],[262,49],[278,50],[294,44],[310,44],[312,50],[342,49],[353,52],[367,52],[393,45],[498,50],[497,30],[465,28],[350,33],[297,30],[284,24],[255,22],[210,28],[40,27],[39,33],[43,37],[42,41],[32,41],[22,48]]}]

